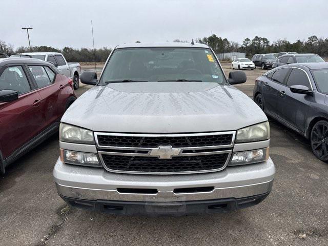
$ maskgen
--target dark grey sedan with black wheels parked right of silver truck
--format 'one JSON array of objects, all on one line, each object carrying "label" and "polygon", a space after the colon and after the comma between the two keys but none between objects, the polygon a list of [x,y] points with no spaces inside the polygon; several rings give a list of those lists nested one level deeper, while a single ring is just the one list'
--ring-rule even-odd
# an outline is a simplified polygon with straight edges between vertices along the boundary
[{"label": "dark grey sedan with black wheels parked right of silver truck", "polygon": [[268,115],[310,139],[328,160],[328,63],[284,65],[256,79],[254,100]]}]

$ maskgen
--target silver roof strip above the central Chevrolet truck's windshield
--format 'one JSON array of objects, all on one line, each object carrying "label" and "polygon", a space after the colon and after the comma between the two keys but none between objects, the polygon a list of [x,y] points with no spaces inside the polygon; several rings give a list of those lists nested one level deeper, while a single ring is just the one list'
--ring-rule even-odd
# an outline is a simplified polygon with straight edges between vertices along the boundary
[{"label": "silver roof strip above the central Chevrolet truck's windshield", "polygon": [[190,47],[190,48],[209,48],[208,45],[195,43],[180,43],[180,42],[166,42],[166,43],[132,43],[132,44],[122,44],[116,46],[116,49],[121,48],[139,48],[139,47]]}]

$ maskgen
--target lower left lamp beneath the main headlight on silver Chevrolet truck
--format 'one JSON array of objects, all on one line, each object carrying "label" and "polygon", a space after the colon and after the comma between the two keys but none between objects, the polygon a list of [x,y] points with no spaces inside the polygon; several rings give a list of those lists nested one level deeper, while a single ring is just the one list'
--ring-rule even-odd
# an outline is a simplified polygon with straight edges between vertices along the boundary
[{"label": "lower left lamp beneath the main headlight on silver Chevrolet truck", "polygon": [[60,160],[74,165],[101,167],[97,154],[71,150],[60,150]]}]

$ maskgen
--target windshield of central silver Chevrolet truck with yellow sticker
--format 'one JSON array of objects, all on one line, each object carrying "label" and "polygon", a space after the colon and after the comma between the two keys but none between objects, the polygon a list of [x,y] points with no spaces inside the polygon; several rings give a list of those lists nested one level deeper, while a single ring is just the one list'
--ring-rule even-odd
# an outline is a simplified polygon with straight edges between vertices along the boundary
[{"label": "windshield of central silver Chevrolet truck with yellow sticker", "polygon": [[100,85],[133,81],[203,81],[226,84],[210,49],[124,48],[110,57]]}]

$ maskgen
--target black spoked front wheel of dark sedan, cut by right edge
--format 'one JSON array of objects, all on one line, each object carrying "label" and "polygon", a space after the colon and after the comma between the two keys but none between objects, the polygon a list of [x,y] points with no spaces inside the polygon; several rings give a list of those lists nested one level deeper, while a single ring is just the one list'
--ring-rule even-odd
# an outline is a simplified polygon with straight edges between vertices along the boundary
[{"label": "black spoked front wheel of dark sedan, cut by right edge", "polygon": [[311,148],[314,155],[322,160],[328,160],[328,122],[318,121],[311,130]]}]

